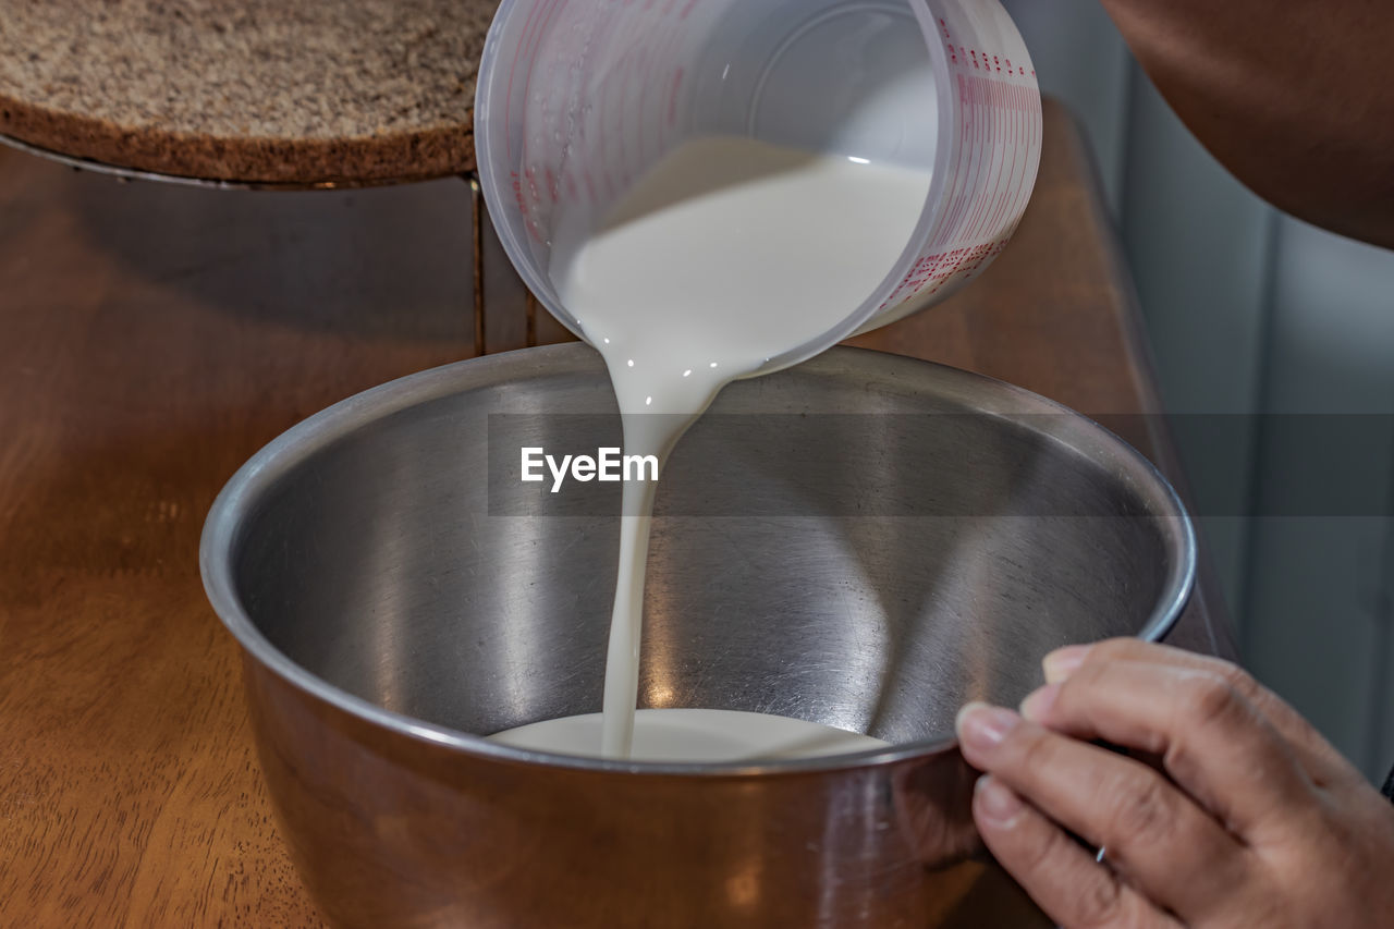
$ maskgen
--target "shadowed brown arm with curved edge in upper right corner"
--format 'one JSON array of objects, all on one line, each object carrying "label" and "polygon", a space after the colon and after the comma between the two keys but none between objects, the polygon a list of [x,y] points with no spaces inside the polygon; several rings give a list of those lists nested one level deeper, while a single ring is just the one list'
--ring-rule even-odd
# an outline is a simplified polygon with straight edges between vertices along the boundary
[{"label": "shadowed brown arm with curved edge in upper right corner", "polygon": [[1101,0],[1167,102],[1276,206],[1394,248],[1390,0]]}]

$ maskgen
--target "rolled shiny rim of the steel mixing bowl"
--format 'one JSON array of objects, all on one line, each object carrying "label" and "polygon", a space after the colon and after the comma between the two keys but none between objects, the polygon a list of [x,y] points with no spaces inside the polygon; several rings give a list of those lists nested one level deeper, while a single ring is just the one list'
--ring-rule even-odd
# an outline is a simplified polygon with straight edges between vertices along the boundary
[{"label": "rolled shiny rim of the steel mixing bowl", "polygon": [[[1132,445],[1098,423],[1061,403],[1005,381],[934,361],[839,346],[802,365],[790,368],[790,371],[815,374],[820,368],[825,368],[829,374],[846,374],[852,368],[859,375],[863,375],[863,379],[866,379],[864,375],[871,375],[873,379],[868,382],[868,386],[880,382],[887,388],[913,391],[933,385],[935,388],[934,392],[940,396],[962,402],[972,399],[974,406],[987,407],[983,411],[1008,420],[1016,417],[1040,417],[1043,413],[1068,413],[1069,416],[1066,417],[1052,417],[1050,420],[1052,428],[1050,430],[1040,428],[1039,424],[1034,424],[1032,428],[1075,451],[1080,451],[1078,441],[1090,439],[1089,444],[1094,446],[1094,452],[1104,452],[1105,456],[1114,459],[1114,463],[1124,464],[1132,469],[1143,481],[1150,481],[1154,492],[1147,497],[1156,498],[1158,509],[1165,508],[1171,511],[1170,513],[1157,512],[1156,518],[1174,523],[1172,531],[1168,536],[1179,547],[1181,557],[1170,566],[1163,593],[1142,629],[1135,633],[1135,637],[1144,642],[1158,642],[1177,624],[1195,590],[1199,559],[1196,531],[1177,490],[1156,464]],[[584,343],[539,346],[468,358],[369,388],[315,413],[284,431],[258,451],[233,474],[213,501],[204,523],[199,540],[199,573],[208,600],[219,619],[250,658],[280,677],[293,688],[365,723],[386,728],[410,739],[429,742],[436,746],[496,762],[544,764],[553,769],[580,771],[651,776],[768,777],[775,774],[806,774],[894,764],[952,749],[956,745],[956,738],[952,732],[914,742],[889,745],[884,749],[769,762],[634,762],[521,749],[492,742],[482,735],[473,735],[446,725],[417,720],[348,693],[293,661],[256,628],[256,624],[247,614],[237,594],[231,554],[237,550],[244,518],[251,512],[255,501],[262,497],[262,491],[270,488],[280,476],[289,473],[300,462],[361,428],[364,424],[385,418],[418,403],[427,403],[470,389],[496,386],[519,378],[556,377],[591,371],[602,372],[604,364],[594,349]],[[986,403],[986,400],[994,402]]]}]

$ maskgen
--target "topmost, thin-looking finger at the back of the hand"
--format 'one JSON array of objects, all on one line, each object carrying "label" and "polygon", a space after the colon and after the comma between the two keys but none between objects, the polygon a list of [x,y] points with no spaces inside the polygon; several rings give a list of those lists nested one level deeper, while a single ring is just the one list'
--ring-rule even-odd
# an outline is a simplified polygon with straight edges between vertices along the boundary
[{"label": "topmost, thin-looking finger at the back of the hand", "polygon": [[1359,778],[1349,762],[1317,732],[1316,727],[1235,664],[1211,656],[1154,644],[1142,639],[1110,639],[1093,646],[1071,646],[1046,656],[1046,682],[1059,683],[1083,664],[1097,661],[1143,661],[1178,668],[1207,671],[1224,678],[1263,714],[1277,732],[1292,745],[1308,777],[1319,787]]}]

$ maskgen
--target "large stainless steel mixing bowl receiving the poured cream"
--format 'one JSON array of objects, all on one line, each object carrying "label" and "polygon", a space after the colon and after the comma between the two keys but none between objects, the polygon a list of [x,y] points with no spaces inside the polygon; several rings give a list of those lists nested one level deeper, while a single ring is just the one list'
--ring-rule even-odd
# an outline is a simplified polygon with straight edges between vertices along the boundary
[{"label": "large stainless steel mixing bowl receiving the poured cream", "polygon": [[519,437],[616,442],[584,346],[388,384],[229,483],[204,579],[333,922],[1006,919],[1015,889],[963,863],[953,714],[1019,700],[1055,646],[1163,635],[1195,571],[1175,494],[1044,399],[868,352],[735,384],[714,413],[659,490],[641,704],[795,716],[892,749],[658,766],[480,738],[601,704],[618,485],[549,495],[509,470]]}]

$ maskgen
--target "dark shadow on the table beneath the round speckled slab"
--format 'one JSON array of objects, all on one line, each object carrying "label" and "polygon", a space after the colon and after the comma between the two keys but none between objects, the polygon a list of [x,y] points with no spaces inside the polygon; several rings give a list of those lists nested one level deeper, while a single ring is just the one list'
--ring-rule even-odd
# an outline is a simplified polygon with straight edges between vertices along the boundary
[{"label": "dark shadow on the table beneath the round speckled slab", "polygon": [[201,305],[358,336],[461,342],[473,332],[468,187],[219,191],[63,172],[91,246]]}]

